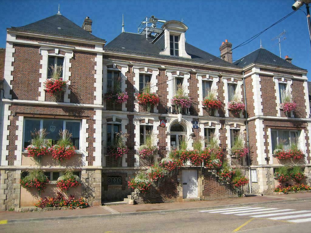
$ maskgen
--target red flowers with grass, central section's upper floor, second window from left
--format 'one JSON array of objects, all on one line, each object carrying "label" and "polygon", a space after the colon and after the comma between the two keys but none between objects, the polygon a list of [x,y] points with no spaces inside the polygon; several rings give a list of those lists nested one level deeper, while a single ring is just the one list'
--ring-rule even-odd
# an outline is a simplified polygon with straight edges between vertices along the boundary
[{"label": "red flowers with grass, central section's upper floor, second window from left", "polygon": [[142,93],[136,95],[136,99],[139,104],[147,108],[147,112],[160,102],[159,96],[154,92],[151,93],[150,83],[145,85]]}]

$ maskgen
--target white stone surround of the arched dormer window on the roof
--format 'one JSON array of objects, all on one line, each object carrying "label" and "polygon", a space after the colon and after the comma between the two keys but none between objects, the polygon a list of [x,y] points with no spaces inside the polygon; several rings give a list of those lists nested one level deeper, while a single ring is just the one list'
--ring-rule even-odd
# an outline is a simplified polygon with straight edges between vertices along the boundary
[{"label": "white stone surround of the arched dormer window on the roof", "polygon": [[162,28],[164,29],[164,38],[165,38],[165,49],[160,52],[160,55],[170,55],[170,46],[169,46],[169,35],[179,36],[179,57],[189,58],[191,56],[186,53],[185,50],[185,31],[188,30],[188,27],[179,21],[167,21]]}]

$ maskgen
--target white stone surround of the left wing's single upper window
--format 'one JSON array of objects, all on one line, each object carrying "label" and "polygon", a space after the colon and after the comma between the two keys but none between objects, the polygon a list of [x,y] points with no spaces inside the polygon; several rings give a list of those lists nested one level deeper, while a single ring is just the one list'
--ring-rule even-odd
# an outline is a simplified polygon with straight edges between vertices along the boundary
[{"label": "white stone surround of the left wing's single upper window", "polygon": [[[49,53],[49,50],[54,50],[55,53]],[[65,52],[65,55],[59,54],[60,51]],[[45,100],[45,91],[44,91],[44,82],[47,80],[48,77],[48,57],[63,57],[63,80],[68,81],[67,86],[65,88],[65,95],[64,95],[64,102],[70,103],[70,99],[68,98],[70,94],[70,89],[68,86],[71,84],[71,81],[69,80],[69,77],[71,76],[71,72],[69,71],[69,68],[71,68],[71,62],[70,59],[73,57],[73,51],[72,49],[58,49],[58,48],[50,48],[47,46],[41,46],[39,49],[39,52],[42,56],[42,60],[40,60],[40,65],[42,68],[39,70],[39,73],[41,74],[41,78],[39,78],[39,82],[41,83],[41,87],[39,87],[40,96],[38,97],[39,101]]]}]

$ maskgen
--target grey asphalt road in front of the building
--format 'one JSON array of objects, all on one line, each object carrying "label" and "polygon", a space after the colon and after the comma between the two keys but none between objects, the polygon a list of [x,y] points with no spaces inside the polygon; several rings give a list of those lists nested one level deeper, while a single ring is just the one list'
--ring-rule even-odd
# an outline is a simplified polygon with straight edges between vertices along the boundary
[{"label": "grey asphalt road in front of the building", "polygon": [[[311,201],[256,205],[251,208],[293,209],[311,211]],[[255,211],[261,211],[253,209]],[[273,209],[273,211],[275,210]],[[271,211],[271,210],[270,210]],[[253,211],[250,211],[253,212]],[[311,213],[311,212],[309,212]],[[308,212],[305,214],[308,215]],[[301,213],[299,213],[301,214]],[[302,213],[304,214],[304,213]],[[285,216],[285,215],[281,215]],[[275,216],[270,216],[275,217]],[[302,218],[310,218],[302,217]],[[298,217],[296,219],[299,219]],[[123,217],[87,218],[80,220],[45,221],[0,225],[1,233],[171,233],[171,232],[252,232],[286,233],[310,232],[310,222],[288,222],[288,219],[272,220],[267,217],[237,216],[234,213],[175,212],[165,214],[133,215]],[[243,225],[243,226],[242,226]],[[241,227],[242,226],[242,227]],[[240,228],[239,228],[240,227]]]}]

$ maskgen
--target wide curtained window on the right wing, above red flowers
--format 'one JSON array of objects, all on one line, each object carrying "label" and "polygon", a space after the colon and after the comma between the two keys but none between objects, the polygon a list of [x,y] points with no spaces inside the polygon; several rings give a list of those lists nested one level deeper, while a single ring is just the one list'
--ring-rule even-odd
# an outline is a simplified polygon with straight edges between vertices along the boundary
[{"label": "wide curtained window on the right wing, above red flowers", "polygon": [[282,143],[284,149],[289,149],[293,143],[298,143],[300,130],[271,130],[272,153],[277,144]]}]

